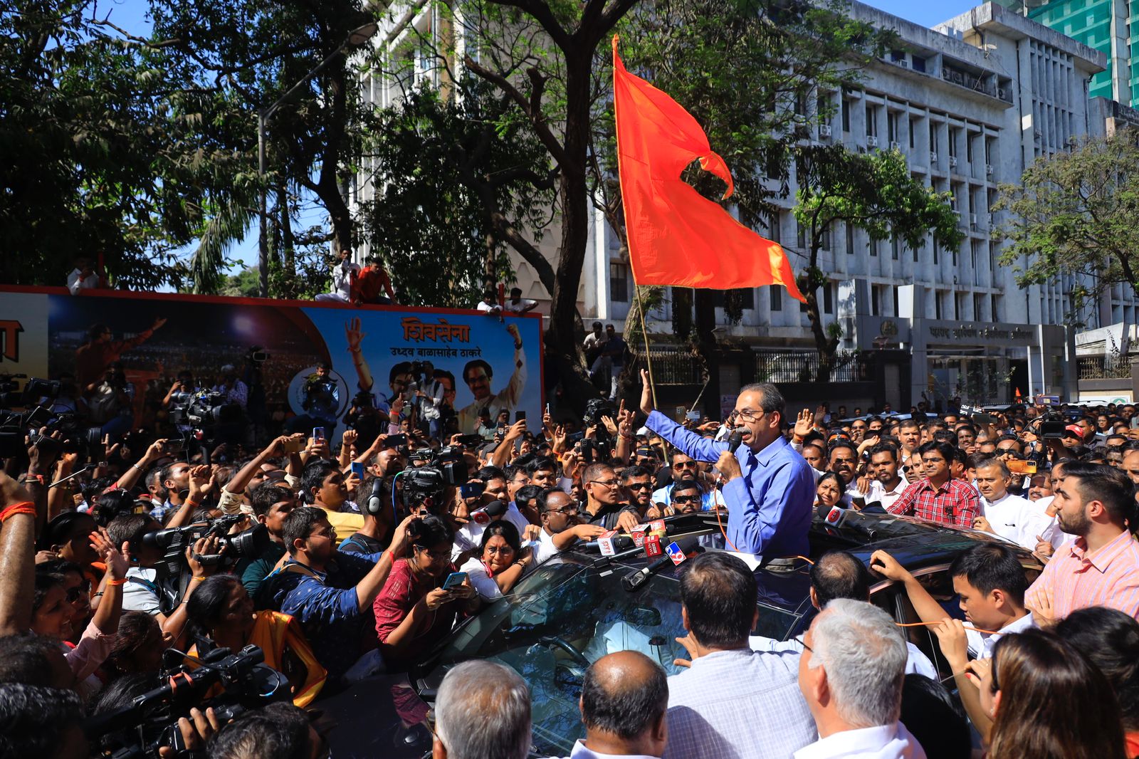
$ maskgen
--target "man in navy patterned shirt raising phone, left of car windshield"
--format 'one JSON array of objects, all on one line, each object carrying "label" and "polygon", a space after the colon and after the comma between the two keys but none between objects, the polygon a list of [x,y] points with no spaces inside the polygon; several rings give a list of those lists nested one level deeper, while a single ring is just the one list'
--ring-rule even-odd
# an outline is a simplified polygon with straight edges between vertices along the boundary
[{"label": "man in navy patterned shirt raising phone, left of car windshield", "polygon": [[[377,663],[376,656],[369,655],[376,643],[369,635],[371,604],[395,556],[403,554],[410,522],[408,517],[396,527],[387,550],[354,555],[336,550],[336,529],[328,512],[302,506],[285,517],[288,558],[265,578],[262,593],[272,599],[274,610],[301,622],[329,677],[354,679],[357,672],[370,674]],[[360,667],[354,668],[358,661]]]}]

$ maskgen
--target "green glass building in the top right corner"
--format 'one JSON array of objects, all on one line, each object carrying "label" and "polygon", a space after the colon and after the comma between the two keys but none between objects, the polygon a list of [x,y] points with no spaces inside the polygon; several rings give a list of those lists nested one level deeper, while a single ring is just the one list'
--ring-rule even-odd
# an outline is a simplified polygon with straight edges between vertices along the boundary
[{"label": "green glass building in the top right corner", "polygon": [[[1139,106],[1139,0],[1000,0],[1015,10],[1107,56],[1091,80],[1089,97]],[[1134,15],[1132,15],[1132,8]],[[1134,55],[1132,55],[1134,51]]]}]

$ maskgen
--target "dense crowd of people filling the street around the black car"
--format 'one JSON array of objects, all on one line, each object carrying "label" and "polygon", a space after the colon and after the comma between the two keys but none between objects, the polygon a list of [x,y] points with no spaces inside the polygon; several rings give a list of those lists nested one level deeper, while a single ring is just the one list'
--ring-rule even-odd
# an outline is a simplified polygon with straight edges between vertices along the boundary
[{"label": "dense crowd of people filling the street around the black car", "polygon": [[[240,403],[231,375],[218,392]],[[563,552],[696,512],[726,516],[729,550],[678,570],[687,656],[672,675],[637,651],[592,661],[573,758],[1139,756],[1134,406],[788,416],[748,385],[728,418],[678,423],[642,379],[636,410],[473,435],[394,405],[335,444],[251,447],[223,424],[110,444],[46,424],[0,474],[0,758],[321,756],[322,697],[413,669]],[[956,603],[888,552],[812,549],[835,509],[968,530]],[[740,554],[813,562],[808,627],[754,635]],[[935,634],[947,682],[871,603],[882,581]],[[226,711],[239,677],[171,695],[249,651],[272,703]],[[142,736],[137,704],[163,688],[169,729]],[[501,663],[451,669],[425,719],[435,757],[533,746],[527,686]]]}]

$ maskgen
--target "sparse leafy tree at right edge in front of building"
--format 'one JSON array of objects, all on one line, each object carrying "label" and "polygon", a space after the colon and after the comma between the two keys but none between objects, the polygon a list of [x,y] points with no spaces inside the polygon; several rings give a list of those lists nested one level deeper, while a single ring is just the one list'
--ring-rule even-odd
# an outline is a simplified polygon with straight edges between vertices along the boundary
[{"label": "sparse leafy tree at right edge in front of building", "polygon": [[1001,185],[994,211],[1008,211],[1000,263],[1022,287],[1079,278],[1076,312],[1092,294],[1128,284],[1139,294],[1139,146],[1129,131],[1041,156],[1019,185]]}]

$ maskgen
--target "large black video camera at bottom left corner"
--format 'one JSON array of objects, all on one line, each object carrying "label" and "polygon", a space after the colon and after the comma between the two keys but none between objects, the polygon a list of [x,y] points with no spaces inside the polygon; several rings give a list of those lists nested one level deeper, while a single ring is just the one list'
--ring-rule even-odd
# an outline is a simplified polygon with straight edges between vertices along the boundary
[{"label": "large black video camera at bottom left corner", "polygon": [[[89,718],[83,732],[112,759],[154,757],[164,746],[185,751],[178,719],[188,717],[192,707],[203,711],[213,708],[224,724],[249,709],[290,696],[288,679],[264,660],[264,652],[254,645],[237,653],[215,648],[197,662],[198,667],[181,664],[166,672],[163,685],[121,709]],[[222,693],[207,700],[206,694],[215,687]]]}]

